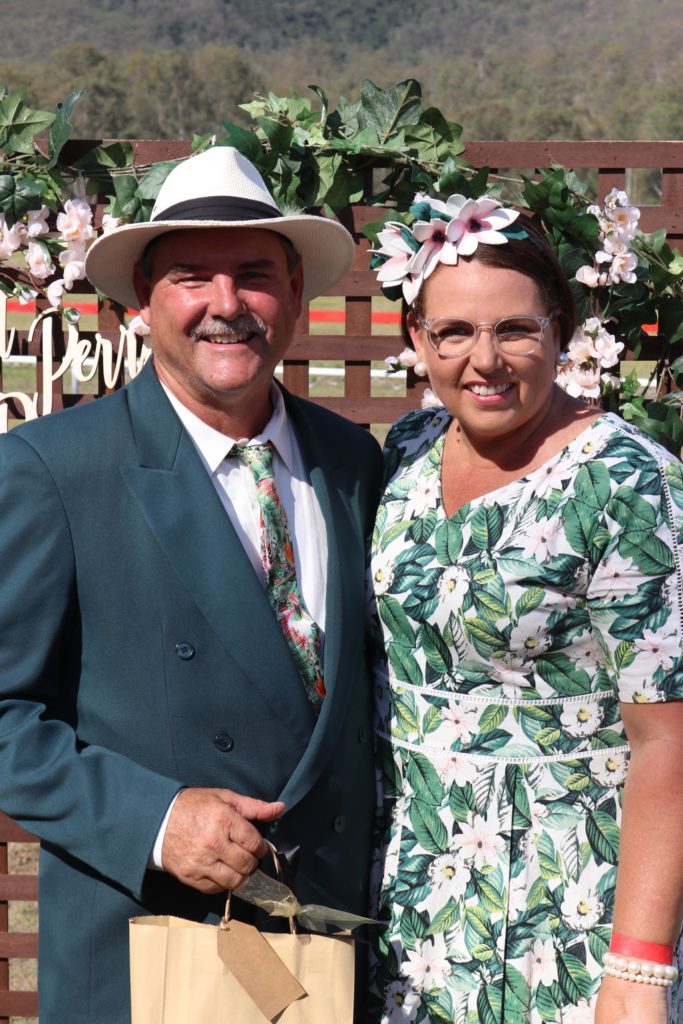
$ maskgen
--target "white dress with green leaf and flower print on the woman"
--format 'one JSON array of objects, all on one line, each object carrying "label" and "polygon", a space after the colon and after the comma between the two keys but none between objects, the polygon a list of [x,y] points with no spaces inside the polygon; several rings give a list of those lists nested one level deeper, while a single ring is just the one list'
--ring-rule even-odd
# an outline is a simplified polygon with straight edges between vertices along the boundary
[{"label": "white dress with green leaf and flower print on the woman", "polygon": [[373,541],[387,927],[371,1019],[589,1024],[629,758],[618,701],[683,697],[681,464],[606,414],[447,518],[449,423],[428,410],[391,430]]}]

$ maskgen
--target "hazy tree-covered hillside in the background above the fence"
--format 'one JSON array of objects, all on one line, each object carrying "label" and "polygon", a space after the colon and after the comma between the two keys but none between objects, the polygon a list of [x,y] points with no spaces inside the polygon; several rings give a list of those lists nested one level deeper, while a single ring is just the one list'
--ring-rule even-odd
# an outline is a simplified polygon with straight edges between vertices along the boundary
[{"label": "hazy tree-covered hillside in the background above the fence", "polygon": [[255,91],[420,80],[473,138],[677,138],[680,0],[1,0],[0,82],[86,135],[178,137]]}]

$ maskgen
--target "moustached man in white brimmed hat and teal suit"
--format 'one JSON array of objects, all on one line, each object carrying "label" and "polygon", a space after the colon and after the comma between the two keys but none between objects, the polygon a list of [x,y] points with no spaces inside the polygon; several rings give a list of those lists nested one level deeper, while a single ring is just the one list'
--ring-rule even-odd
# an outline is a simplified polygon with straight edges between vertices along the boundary
[{"label": "moustached man in white brimmed hat and teal suit", "polygon": [[262,833],[302,901],[366,911],[379,450],[272,380],[351,255],[236,151],[189,159],[87,260],[152,362],[1,440],[0,807],[42,840],[41,1024],[128,1021],[128,919],[215,922]]}]

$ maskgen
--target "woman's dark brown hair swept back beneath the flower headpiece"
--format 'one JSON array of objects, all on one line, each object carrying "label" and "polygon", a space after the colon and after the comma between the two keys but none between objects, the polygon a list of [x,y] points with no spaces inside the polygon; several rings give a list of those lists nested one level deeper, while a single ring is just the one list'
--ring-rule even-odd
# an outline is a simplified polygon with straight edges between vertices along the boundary
[{"label": "woman's dark brown hair swept back beneath the flower headpiece", "polygon": [[[508,239],[500,246],[479,243],[471,256],[459,256],[458,259],[517,270],[535,281],[548,302],[548,308],[558,310],[560,347],[565,349],[577,329],[577,310],[569,282],[536,218],[522,211],[511,227],[512,230],[519,228],[526,232],[527,238]],[[424,284],[412,306],[403,299],[400,313],[400,333],[405,344],[413,348],[408,330],[410,312],[424,315]]]}]

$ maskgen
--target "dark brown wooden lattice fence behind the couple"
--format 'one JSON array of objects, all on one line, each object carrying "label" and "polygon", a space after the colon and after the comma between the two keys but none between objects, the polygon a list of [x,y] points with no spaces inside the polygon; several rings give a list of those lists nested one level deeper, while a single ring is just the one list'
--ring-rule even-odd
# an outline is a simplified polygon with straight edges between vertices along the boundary
[{"label": "dark brown wooden lattice fence behind the couple", "polygon": [[[72,142],[72,159],[79,151],[85,152],[92,142]],[[134,143],[137,164],[156,163],[186,156],[189,143],[185,141],[160,142],[137,141]],[[65,158],[67,154],[63,155]],[[602,199],[612,187],[624,188],[633,169],[655,171],[661,175],[660,202],[658,205],[642,206],[640,226],[645,231],[665,228],[670,244],[681,246],[683,240],[683,142],[477,142],[467,143],[465,158],[475,167],[488,166],[492,170],[515,173],[519,169],[532,170],[560,164],[582,171],[597,174],[598,198]],[[102,208],[98,208],[95,222],[101,221]],[[403,394],[375,396],[373,394],[372,367],[393,355],[400,347],[394,333],[373,333],[373,299],[379,296],[375,274],[368,269],[368,242],[360,230],[364,224],[377,220],[377,208],[354,206],[345,211],[341,220],[356,240],[356,254],[353,266],[340,286],[331,294],[343,303],[345,317],[342,334],[311,334],[309,311],[305,310],[298,325],[294,343],[284,364],[284,382],[296,394],[309,395],[310,364],[315,360],[340,360],[343,364],[343,394],[338,397],[317,397],[326,406],[343,416],[365,424],[387,424],[411,409],[420,404],[424,384],[409,371]],[[84,288],[83,291],[86,291]],[[82,337],[94,336],[98,331],[102,337],[112,340],[115,350],[120,345],[121,310],[104,301],[97,302],[92,295],[96,325],[83,331]],[[36,310],[41,311],[40,304]],[[11,323],[11,322],[10,322]],[[4,339],[0,337],[0,392],[3,388],[2,353],[10,357],[35,356],[35,393],[38,411],[51,404],[53,410],[90,400],[92,395],[70,393],[66,389],[66,378],[50,382],[51,402],[45,402],[45,381],[49,374],[43,374],[43,364],[49,360],[56,371],[65,355],[65,325],[56,323],[53,330],[52,350],[46,352],[41,346],[37,333],[29,340],[27,331],[15,330],[10,337],[9,328]],[[4,344],[4,348],[2,347]],[[657,339],[650,338],[643,347],[641,358],[654,358],[657,353]],[[626,357],[633,357],[627,353]],[[48,368],[49,369],[49,368]],[[111,383],[111,382],[110,382]],[[121,379],[114,386],[120,386]],[[93,393],[103,394],[108,382],[101,373],[94,380]],[[9,417],[23,419],[25,410],[17,401],[9,400]],[[18,496],[20,498],[20,496]],[[30,837],[16,824],[0,814],[0,1024],[8,1024],[10,1017],[26,1018],[37,1015],[35,991],[10,990],[9,962],[11,959],[37,956],[37,935],[9,930],[8,909],[11,903],[37,900],[37,880],[35,876],[13,873],[9,870],[8,845],[32,842]],[[35,841],[34,841],[35,842]]]}]

